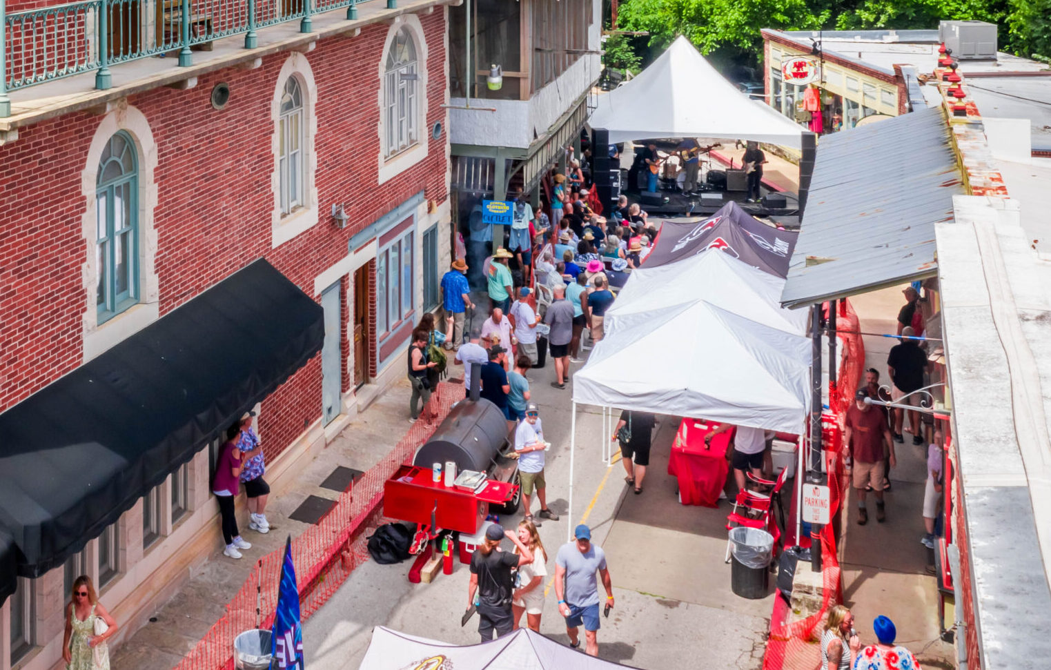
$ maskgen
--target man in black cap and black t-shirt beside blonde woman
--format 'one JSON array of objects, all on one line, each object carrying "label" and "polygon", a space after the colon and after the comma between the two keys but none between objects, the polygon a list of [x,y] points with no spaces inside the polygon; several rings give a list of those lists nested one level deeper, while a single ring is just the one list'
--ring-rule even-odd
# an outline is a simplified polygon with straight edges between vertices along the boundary
[{"label": "man in black cap and black t-shirt beside blonde woman", "polygon": [[[518,547],[518,553],[508,553],[500,549],[500,541],[507,538]],[[478,634],[481,642],[507,635],[514,630],[511,610],[514,581],[511,570],[533,562],[533,552],[518,536],[504,530],[498,523],[486,528],[486,542],[471,554],[471,583],[468,587],[468,609],[478,608]],[[475,592],[478,598],[475,600]]]}]

